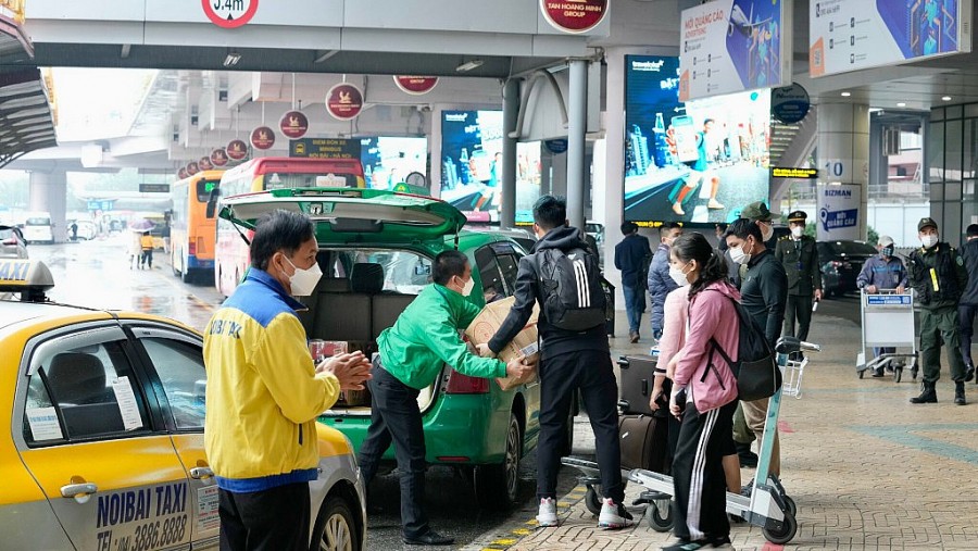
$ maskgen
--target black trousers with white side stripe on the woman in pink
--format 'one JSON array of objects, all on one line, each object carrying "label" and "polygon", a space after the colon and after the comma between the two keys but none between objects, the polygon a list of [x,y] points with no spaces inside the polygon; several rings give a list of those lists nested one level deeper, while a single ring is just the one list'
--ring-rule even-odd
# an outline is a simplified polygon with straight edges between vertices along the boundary
[{"label": "black trousers with white side stripe on the woman in pink", "polygon": [[717,540],[730,535],[727,521],[727,480],[723,456],[734,430],[737,400],[697,411],[687,403],[679,428],[679,446],[673,458],[676,524],[673,534],[684,540]]}]

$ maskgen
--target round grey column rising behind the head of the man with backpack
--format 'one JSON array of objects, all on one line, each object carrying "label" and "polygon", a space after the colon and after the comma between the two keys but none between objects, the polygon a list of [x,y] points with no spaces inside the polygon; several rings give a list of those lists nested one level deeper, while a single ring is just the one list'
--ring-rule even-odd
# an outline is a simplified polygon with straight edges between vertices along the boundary
[{"label": "round grey column rising behind the head of the man with backpack", "polygon": [[567,221],[585,227],[585,135],[588,132],[588,61],[570,60],[567,112]]}]

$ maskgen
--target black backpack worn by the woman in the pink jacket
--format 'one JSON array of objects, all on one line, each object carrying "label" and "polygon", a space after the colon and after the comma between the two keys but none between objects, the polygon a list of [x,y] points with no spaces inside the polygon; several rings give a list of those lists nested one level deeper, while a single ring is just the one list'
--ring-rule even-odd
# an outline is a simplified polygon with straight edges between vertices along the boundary
[{"label": "black backpack worn by the woman in the pink jacket", "polygon": [[711,338],[713,348],[719,352],[737,378],[737,393],[740,400],[752,401],[769,398],[781,388],[781,368],[777,356],[757,322],[740,302],[730,299],[740,325],[737,360],[731,361],[716,339]]}]

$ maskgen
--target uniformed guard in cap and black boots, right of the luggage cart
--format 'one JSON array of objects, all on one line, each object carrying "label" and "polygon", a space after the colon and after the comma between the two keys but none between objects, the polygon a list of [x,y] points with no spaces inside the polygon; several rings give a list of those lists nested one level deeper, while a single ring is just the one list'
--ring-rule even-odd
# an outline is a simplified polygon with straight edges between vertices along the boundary
[{"label": "uniformed guard in cap and black boots, right of the luggage cart", "polygon": [[961,334],[957,325],[957,303],[968,285],[964,260],[953,247],[938,241],[933,218],[920,218],[917,235],[923,247],[910,255],[906,273],[917,295],[920,310],[920,358],[924,362],[924,384],[920,396],[911,403],[936,403],[938,379],[941,378],[941,343],[948,347],[948,363],[954,379],[954,403],[965,405],[964,384],[975,376],[966,370],[961,358]]}]

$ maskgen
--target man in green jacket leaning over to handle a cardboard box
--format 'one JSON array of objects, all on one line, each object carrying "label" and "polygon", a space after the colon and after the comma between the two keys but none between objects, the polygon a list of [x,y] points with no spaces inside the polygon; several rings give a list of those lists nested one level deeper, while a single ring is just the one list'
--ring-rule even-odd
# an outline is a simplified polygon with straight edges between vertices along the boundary
[{"label": "man in green jacket leaning over to handle a cardboard box", "polygon": [[523,377],[532,366],[523,358],[509,364],[472,353],[459,329],[478,315],[466,297],[472,292],[472,266],[462,252],[435,258],[435,283],[422,289],[392,327],[377,337],[379,356],[371,381],[371,427],[360,447],[360,468],[369,485],[384,452],[393,441],[401,472],[401,527],[405,543],[448,546],[454,538],[428,525],[425,497],[425,435],[417,395],[441,373],[442,363],[469,377]]}]

